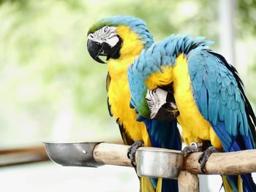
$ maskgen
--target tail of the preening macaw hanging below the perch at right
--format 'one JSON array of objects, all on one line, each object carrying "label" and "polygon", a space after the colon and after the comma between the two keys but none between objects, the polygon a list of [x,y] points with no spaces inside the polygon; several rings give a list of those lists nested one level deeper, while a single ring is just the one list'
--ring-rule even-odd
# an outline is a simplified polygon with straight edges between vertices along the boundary
[{"label": "tail of the preening macaw hanging below the perch at right", "polygon": [[222,176],[225,192],[254,192],[256,185],[252,180],[252,174]]}]

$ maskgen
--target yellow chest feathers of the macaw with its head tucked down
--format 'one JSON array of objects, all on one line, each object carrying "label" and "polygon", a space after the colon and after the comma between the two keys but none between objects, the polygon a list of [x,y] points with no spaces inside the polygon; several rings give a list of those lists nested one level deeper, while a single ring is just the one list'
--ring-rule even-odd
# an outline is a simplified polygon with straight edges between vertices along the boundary
[{"label": "yellow chest feathers of the macaw with its head tucked down", "polygon": [[192,85],[187,68],[187,59],[183,55],[176,58],[176,66],[173,67],[173,91],[176,105],[180,112],[178,123],[182,127],[184,141],[202,142],[210,140],[214,147],[221,148],[222,145],[211,128],[211,124],[203,118],[195,104],[192,96]]}]

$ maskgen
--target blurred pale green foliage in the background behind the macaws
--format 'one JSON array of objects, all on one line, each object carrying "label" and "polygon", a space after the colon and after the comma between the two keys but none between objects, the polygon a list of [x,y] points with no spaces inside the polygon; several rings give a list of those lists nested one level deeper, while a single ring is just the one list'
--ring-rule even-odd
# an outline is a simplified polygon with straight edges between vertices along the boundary
[{"label": "blurred pale green foliage in the background behind the macaws", "polygon": [[[254,11],[245,11],[255,9],[250,4],[254,1],[243,1],[239,1],[243,16],[238,30],[255,19],[249,18]],[[173,33],[191,34],[208,37],[218,46],[218,1],[23,0],[0,4],[1,147],[50,139],[121,139],[108,115],[106,66],[93,61],[86,50],[86,32],[100,18],[133,15],[148,23],[156,40]]]}]

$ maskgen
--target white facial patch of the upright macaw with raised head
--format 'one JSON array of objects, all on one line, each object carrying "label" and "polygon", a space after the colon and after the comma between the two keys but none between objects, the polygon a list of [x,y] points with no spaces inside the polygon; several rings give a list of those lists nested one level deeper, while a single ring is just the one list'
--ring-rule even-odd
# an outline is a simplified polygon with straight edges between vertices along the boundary
[{"label": "white facial patch of the upright macaw with raised head", "polygon": [[99,30],[94,31],[93,34],[89,34],[88,39],[99,43],[106,42],[110,47],[114,47],[119,40],[116,34],[116,27],[113,26],[99,28]]}]

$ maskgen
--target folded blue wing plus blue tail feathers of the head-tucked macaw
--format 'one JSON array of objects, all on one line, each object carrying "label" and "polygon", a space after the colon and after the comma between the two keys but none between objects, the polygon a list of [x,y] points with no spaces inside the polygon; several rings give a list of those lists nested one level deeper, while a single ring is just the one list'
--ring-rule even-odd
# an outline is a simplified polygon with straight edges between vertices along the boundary
[{"label": "folded blue wing plus blue tail feathers of the head-tucked macaw", "polygon": [[[201,70],[202,66],[205,70]],[[188,68],[197,107],[211,123],[224,150],[230,152],[254,149],[255,115],[236,70],[221,55],[210,50],[192,53],[188,59]],[[199,82],[202,82],[201,88],[198,86]],[[241,178],[244,181],[244,191],[256,191],[251,174],[242,174]],[[227,179],[237,191],[237,177],[227,176]]]}]

